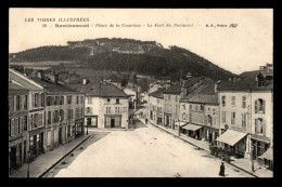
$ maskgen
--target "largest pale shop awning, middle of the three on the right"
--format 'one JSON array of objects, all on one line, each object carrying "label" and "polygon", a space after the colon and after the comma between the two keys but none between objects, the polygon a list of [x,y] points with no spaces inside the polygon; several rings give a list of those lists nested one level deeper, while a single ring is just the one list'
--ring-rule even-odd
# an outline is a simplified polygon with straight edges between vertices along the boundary
[{"label": "largest pale shop awning, middle of the three on the right", "polygon": [[233,131],[233,130],[227,130],[227,132],[221,134],[216,141],[226,143],[230,146],[234,146],[239,141],[241,141],[246,135],[247,135],[247,133]]}]

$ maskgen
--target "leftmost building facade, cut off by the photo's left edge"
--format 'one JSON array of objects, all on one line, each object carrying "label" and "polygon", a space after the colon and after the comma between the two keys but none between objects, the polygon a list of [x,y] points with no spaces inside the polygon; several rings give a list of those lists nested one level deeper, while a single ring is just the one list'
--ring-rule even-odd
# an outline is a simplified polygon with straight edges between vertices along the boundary
[{"label": "leftmost building facade, cut off by the photo's left edge", "polygon": [[29,90],[9,82],[9,169],[17,170],[27,161],[29,135],[27,132]]}]

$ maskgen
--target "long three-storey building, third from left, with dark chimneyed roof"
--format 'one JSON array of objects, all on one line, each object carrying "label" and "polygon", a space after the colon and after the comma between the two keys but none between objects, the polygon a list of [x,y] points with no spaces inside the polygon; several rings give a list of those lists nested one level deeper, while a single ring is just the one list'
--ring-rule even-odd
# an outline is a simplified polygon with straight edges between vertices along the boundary
[{"label": "long three-storey building, third from left, with dark chimneyed roof", "polygon": [[46,151],[85,134],[85,94],[63,85],[57,77],[30,79],[44,88]]}]

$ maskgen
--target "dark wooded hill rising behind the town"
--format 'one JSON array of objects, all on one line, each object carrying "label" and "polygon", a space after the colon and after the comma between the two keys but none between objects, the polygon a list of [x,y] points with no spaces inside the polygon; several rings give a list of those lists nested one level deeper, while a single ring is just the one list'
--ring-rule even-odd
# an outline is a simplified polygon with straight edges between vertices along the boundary
[{"label": "dark wooded hill rising behind the town", "polygon": [[155,41],[100,38],[69,41],[66,46],[41,46],[10,54],[10,62],[80,61],[94,69],[134,71],[172,80],[191,72],[225,80],[235,76],[187,49],[164,49]]}]

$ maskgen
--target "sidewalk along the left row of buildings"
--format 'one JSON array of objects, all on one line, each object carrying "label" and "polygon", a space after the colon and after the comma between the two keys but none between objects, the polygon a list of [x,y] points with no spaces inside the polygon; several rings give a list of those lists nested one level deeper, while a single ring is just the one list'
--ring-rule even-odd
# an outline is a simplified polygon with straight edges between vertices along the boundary
[{"label": "sidewalk along the left row of buildings", "polygon": [[[73,149],[88,139],[90,135],[84,135],[74,139],[65,145],[55,148],[52,151],[48,151],[44,155],[39,156],[29,164],[29,177],[39,177],[46,171],[48,171],[57,161],[68,155]],[[18,171],[12,174],[10,177],[27,177],[27,164],[24,164]]]}]

